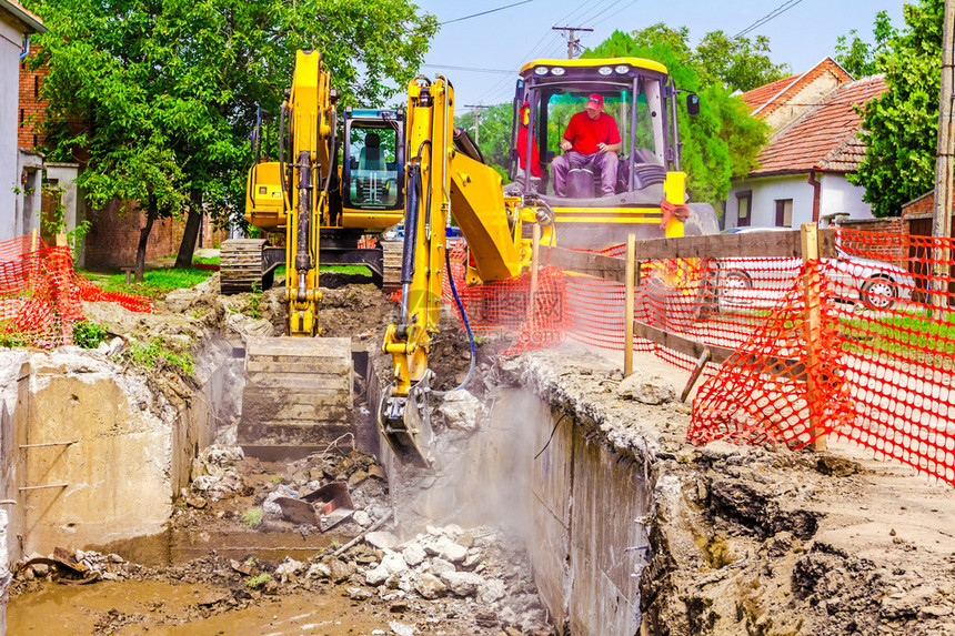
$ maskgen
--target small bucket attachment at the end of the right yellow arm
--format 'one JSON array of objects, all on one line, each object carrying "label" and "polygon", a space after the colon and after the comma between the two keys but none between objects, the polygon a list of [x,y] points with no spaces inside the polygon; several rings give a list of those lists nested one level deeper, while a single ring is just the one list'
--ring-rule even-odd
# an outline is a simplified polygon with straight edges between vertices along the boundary
[{"label": "small bucket attachment at the end of the right yellow arm", "polygon": [[408,395],[395,395],[392,385],[382,395],[378,410],[378,425],[398,460],[423,468],[431,466],[434,443],[428,407],[432,375],[429,370]]}]

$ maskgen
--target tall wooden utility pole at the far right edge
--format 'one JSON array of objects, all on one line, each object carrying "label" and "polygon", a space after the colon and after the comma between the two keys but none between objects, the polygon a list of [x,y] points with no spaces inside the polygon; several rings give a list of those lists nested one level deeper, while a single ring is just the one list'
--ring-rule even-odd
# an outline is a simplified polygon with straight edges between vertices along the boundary
[{"label": "tall wooden utility pole at the far right edge", "polygon": [[[955,159],[955,128],[952,111],[955,109],[955,0],[945,0],[945,22],[942,28],[942,90],[938,98],[938,141],[935,160],[935,220],[932,223],[934,238],[952,236],[952,178]],[[933,305],[942,311],[948,296],[947,246],[935,250],[935,266],[932,272],[935,285]]]}]

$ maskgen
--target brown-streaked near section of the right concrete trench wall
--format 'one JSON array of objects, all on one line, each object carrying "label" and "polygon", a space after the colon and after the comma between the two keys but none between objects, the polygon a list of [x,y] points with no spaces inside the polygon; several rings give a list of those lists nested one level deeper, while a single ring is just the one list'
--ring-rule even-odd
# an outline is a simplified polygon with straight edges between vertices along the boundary
[{"label": "brown-streaked near section of the right concrete trench wall", "polygon": [[643,467],[575,414],[547,415],[534,425],[534,581],[571,634],[635,634],[651,507]]}]

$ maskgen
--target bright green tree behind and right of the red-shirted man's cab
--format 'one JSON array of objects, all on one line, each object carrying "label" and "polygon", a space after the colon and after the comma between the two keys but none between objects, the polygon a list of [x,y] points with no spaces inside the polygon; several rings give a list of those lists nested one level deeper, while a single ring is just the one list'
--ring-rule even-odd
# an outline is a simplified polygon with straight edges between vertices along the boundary
[{"label": "bright green tree behind and right of the red-shirted man's cab", "polygon": [[[690,118],[686,104],[680,103],[680,139],[683,142],[681,168],[694,201],[718,203],[726,198],[730,180],[746,175],[756,164],[756,155],[766,143],[768,127],[747,114],[742,100],[716,81],[704,84],[696,70],[681,62],[681,52],[666,43],[639,44],[632,36],[616,31],[584,57],[631,55],[664,64],[677,88],[700,93],[700,114]],[[686,58],[683,58],[686,60]]]}]

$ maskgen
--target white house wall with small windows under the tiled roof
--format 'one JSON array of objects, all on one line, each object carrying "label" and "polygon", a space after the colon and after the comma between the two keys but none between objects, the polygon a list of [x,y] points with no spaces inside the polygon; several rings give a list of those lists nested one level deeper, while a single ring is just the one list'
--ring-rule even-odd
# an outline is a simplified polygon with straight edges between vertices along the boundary
[{"label": "white house wall with small windows under the tiled roof", "polygon": [[[851,219],[872,219],[872,209],[862,201],[865,189],[846,181],[842,174],[816,173],[822,184],[820,191],[820,215],[847,212]],[[808,173],[787,174],[783,176],[763,176],[747,179],[733,185],[726,196],[725,228],[737,226],[736,193],[751,190],[753,208],[750,226],[775,228],[776,201],[793,200],[793,228],[813,221],[813,186],[808,183]]]}]

